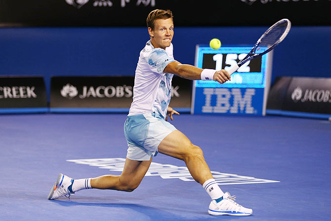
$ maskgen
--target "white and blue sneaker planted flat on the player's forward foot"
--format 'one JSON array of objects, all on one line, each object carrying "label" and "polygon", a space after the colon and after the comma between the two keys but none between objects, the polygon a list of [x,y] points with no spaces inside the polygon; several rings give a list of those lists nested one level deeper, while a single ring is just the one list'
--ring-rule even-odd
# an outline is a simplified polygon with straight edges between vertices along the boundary
[{"label": "white and blue sneaker planted flat on the player's forward foot", "polygon": [[245,208],[235,202],[236,196],[231,196],[229,192],[224,193],[223,200],[216,202],[212,200],[209,204],[208,213],[210,215],[230,215],[249,216],[253,214],[252,209]]}]

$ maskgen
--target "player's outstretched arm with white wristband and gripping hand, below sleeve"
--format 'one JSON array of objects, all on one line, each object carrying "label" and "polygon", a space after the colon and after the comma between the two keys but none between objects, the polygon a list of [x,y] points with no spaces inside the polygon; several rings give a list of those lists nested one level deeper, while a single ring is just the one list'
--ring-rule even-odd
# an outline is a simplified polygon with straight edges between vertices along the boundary
[{"label": "player's outstretched arm with white wristband and gripping hand, below sleeve", "polygon": [[220,84],[231,80],[229,73],[224,69],[220,71],[201,69],[189,64],[181,64],[178,61],[173,61],[167,64],[164,72],[175,74],[179,77],[190,80],[213,80]]}]

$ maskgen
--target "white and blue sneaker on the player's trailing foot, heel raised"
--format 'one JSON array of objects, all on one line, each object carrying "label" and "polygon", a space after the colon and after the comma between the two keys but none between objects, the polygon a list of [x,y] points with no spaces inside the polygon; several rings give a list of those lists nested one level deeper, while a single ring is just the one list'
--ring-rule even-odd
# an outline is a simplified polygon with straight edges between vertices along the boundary
[{"label": "white and blue sneaker on the player's trailing foot, heel raised", "polygon": [[60,174],[48,194],[48,199],[53,200],[60,198],[61,196],[75,194],[72,190],[73,182],[74,179],[71,177]]}]

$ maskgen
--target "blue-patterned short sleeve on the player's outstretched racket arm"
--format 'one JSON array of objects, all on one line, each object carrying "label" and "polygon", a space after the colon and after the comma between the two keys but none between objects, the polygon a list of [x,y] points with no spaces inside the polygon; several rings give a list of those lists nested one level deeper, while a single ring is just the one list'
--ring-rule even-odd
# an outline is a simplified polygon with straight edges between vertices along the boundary
[{"label": "blue-patterned short sleeve on the player's outstretched racket arm", "polygon": [[172,61],[174,61],[174,59],[162,48],[155,48],[148,57],[148,64],[154,67],[161,75],[163,74],[166,65]]}]

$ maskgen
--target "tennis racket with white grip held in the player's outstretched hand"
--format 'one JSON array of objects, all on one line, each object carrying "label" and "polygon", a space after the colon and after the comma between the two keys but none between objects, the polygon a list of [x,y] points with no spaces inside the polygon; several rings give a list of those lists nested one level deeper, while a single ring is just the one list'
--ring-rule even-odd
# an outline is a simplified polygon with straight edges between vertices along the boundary
[{"label": "tennis racket with white grip held in the player's outstretched hand", "polygon": [[257,56],[262,56],[263,54],[266,54],[272,49],[274,49],[277,44],[281,43],[285,39],[285,37],[290,32],[290,28],[291,22],[289,19],[282,19],[276,22],[270,28],[268,28],[268,30],[265,31],[265,33],[259,38],[259,40],[257,40],[256,44],[246,55],[246,57],[239,61],[237,65],[228,70],[229,74],[232,75],[238,70],[238,68],[240,68],[249,60]]}]

